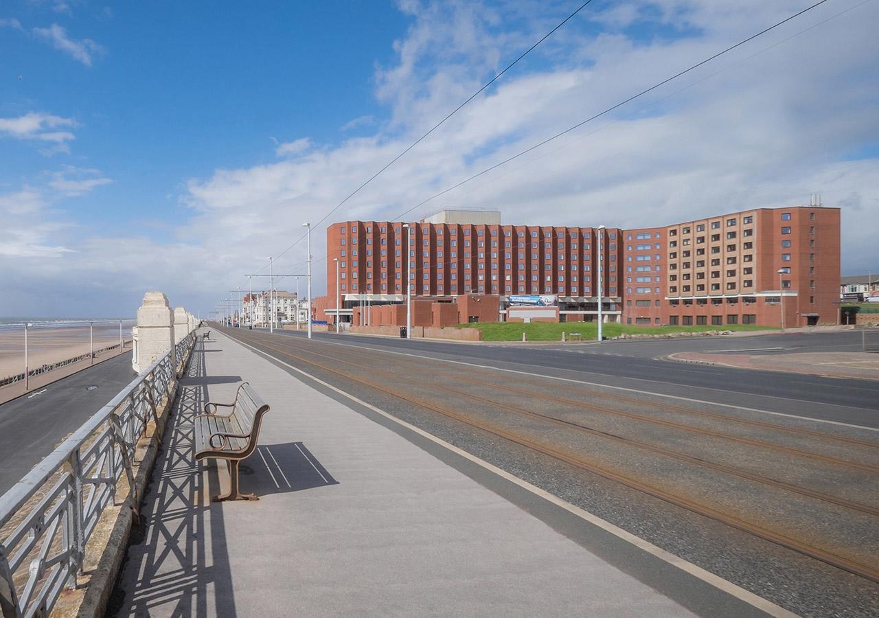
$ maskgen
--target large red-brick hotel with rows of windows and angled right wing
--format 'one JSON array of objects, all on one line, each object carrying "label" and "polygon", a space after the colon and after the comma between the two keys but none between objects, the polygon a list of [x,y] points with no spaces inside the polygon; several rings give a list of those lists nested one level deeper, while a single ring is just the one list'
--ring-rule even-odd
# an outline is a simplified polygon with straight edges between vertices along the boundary
[{"label": "large red-brick hotel with rows of windows and angled right wing", "polygon": [[[499,212],[483,211],[410,225],[413,298],[496,295],[501,320],[512,294],[556,294],[562,320],[595,319],[600,243],[608,321],[779,325],[782,305],[789,327],[839,321],[839,208],[758,208],[641,229],[501,225]],[[330,302],[321,304],[335,306],[333,258],[345,308],[403,302],[407,234],[403,222],[332,224]]]}]

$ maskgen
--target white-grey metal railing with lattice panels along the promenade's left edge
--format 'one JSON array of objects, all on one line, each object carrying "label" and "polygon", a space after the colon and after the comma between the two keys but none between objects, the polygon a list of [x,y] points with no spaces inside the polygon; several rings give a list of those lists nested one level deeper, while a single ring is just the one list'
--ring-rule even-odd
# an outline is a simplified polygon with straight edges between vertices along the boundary
[{"label": "white-grey metal railing with lattice panels along the promenade's left edge", "polygon": [[195,343],[192,332],[138,375],[61,446],[0,496],[0,614],[42,616],[76,585],[85,545],[117,483],[133,495],[134,447],[173,396]]}]

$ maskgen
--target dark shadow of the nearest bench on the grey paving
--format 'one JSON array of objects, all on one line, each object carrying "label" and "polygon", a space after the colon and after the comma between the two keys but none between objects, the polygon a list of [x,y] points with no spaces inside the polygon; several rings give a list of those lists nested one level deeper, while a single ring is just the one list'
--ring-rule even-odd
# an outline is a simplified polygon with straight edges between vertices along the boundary
[{"label": "dark shadow of the nearest bench on the grey paving", "polygon": [[338,485],[302,442],[258,446],[241,462],[239,474],[243,491],[253,491],[257,496]]}]

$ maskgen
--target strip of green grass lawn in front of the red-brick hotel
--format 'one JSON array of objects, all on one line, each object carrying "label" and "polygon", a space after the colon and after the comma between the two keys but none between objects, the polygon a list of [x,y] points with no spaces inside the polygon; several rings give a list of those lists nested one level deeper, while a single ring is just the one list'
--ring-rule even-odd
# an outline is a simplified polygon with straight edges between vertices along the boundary
[{"label": "strip of green grass lawn in front of the red-brick hotel", "polygon": [[[521,341],[522,333],[526,333],[528,341],[561,341],[562,332],[581,332],[585,339],[598,338],[597,322],[478,322],[475,324],[458,324],[458,328],[478,328],[483,331],[483,341]],[[675,332],[704,331],[777,331],[771,326],[756,324],[730,324],[723,326],[635,326],[632,324],[605,324],[602,335],[605,338],[627,335],[665,335]]]}]

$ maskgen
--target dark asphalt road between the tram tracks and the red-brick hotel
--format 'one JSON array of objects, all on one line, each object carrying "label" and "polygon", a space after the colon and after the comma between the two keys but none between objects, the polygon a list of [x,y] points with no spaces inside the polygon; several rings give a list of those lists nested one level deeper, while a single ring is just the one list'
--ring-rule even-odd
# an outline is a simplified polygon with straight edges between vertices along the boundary
[{"label": "dark asphalt road between the tram tracks and the red-brick hotel", "polygon": [[[304,331],[275,333],[278,337],[305,337]],[[879,338],[879,333],[873,335]],[[855,331],[621,340],[564,346],[457,344],[335,333],[314,333],[314,337],[338,345],[563,377],[879,429],[879,381],[701,366],[662,358],[684,351],[755,348],[767,353],[857,351],[861,349],[861,333]]]}]

